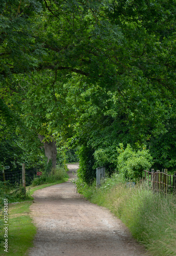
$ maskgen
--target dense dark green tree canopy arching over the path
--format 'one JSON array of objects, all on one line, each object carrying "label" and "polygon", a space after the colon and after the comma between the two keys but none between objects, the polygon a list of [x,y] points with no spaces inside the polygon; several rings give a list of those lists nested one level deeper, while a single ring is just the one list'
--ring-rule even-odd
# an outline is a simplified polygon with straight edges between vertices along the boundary
[{"label": "dense dark green tree canopy arching over the path", "polygon": [[89,182],[123,143],[175,170],[175,17],[175,0],[2,0],[0,161],[77,147]]}]

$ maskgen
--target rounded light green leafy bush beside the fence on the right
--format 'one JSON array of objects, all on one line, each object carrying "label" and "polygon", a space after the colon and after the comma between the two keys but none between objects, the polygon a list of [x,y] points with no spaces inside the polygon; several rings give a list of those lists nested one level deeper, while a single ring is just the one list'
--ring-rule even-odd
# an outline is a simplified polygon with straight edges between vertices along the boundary
[{"label": "rounded light green leafy bush beside the fence on the right", "polygon": [[144,170],[149,170],[153,164],[153,158],[145,146],[136,151],[130,144],[124,149],[120,143],[117,152],[117,168],[124,180],[137,182],[144,177]]}]

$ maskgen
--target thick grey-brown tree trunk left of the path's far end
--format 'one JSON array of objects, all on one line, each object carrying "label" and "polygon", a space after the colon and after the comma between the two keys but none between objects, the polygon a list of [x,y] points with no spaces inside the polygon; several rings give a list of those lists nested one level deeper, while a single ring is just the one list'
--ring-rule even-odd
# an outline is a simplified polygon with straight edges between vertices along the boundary
[{"label": "thick grey-brown tree trunk left of the path's far end", "polygon": [[[38,138],[42,142],[44,139],[44,136],[38,135]],[[56,157],[57,157],[57,147],[56,147],[56,141],[45,141],[42,142],[44,147],[45,156],[47,157],[47,163],[49,162],[49,159],[52,159],[52,167],[56,167]]]}]

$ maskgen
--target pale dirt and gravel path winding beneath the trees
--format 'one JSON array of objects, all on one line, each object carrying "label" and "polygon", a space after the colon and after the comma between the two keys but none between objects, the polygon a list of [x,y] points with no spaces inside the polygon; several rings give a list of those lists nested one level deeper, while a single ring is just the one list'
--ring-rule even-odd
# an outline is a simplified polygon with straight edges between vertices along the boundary
[{"label": "pale dirt and gravel path winding beneath the trees", "polygon": [[30,256],[143,256],[145,251],[109,210],[91,204],[68,182],[35,191],[31,206],[38,228]]}]

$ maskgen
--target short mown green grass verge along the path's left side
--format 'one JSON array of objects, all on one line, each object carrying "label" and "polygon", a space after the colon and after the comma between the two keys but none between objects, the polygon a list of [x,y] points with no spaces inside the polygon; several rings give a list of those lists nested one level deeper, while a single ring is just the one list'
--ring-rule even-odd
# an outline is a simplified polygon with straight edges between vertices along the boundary
[{"label": "short mown green grass verge along the path's left side", "polygon": [[[34,191],[55,184],[60,184],[67,180],[67,178],[64,178],[54,183],[43,184],[35,187],[29,186],[27,187],[27,191],[30,194],[29,201],[8,204],[8,252],[4,251],[5,238],[3,238],[3,241],[0,244],[0,255],[28,255],[29,248],[33,247],[33,240],[36,234],[36,227],[32,223],[32,218],[30,217],[30,206],[33,203],[32,195]],[[4,224],[3,218],[1,222]]]}]

